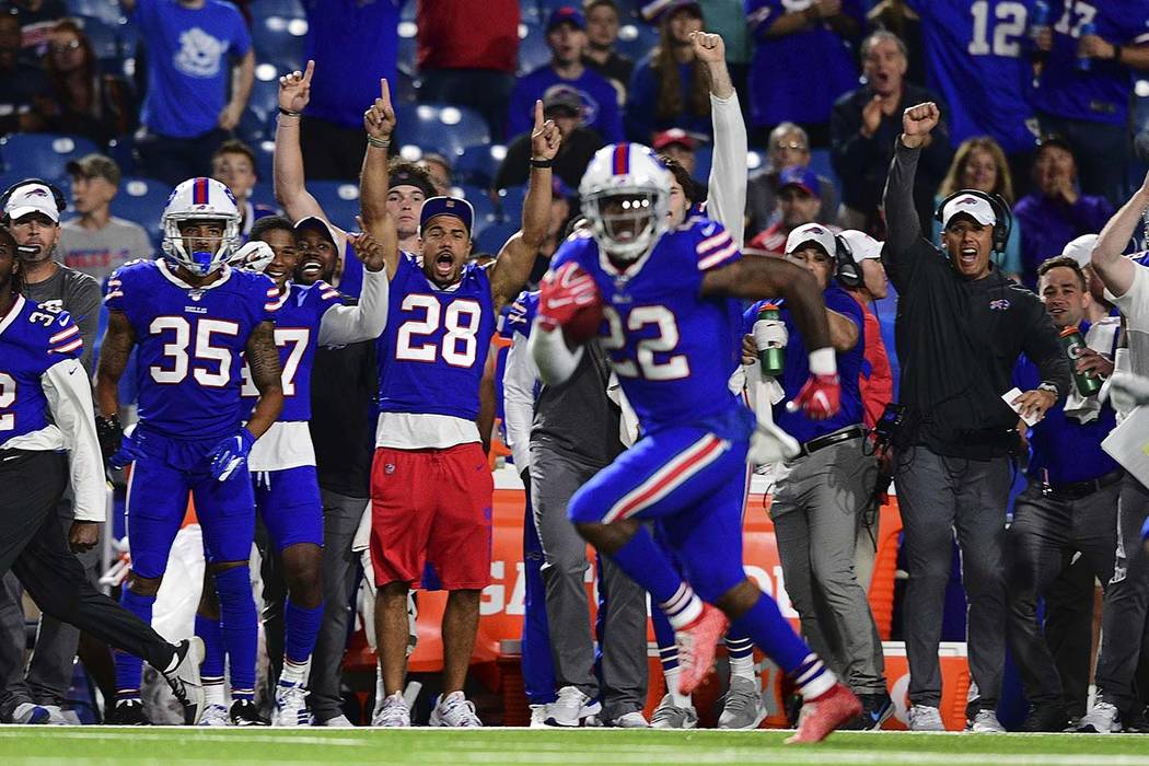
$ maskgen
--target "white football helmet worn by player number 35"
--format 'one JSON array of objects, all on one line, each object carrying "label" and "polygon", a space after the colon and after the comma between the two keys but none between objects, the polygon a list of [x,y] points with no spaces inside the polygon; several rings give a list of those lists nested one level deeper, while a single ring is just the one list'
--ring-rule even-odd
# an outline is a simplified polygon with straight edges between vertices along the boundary
[{"label": "white football helmet worn by player number 35", "polygon": [[[219,220],[223,239],[215,253],[188,253],[179,224],[185,220]],[[218,271],[239,242],[239,206],[231,191],[214,178],[188,178],[172,191],[160,218],[163,254],[200,277]]]}]

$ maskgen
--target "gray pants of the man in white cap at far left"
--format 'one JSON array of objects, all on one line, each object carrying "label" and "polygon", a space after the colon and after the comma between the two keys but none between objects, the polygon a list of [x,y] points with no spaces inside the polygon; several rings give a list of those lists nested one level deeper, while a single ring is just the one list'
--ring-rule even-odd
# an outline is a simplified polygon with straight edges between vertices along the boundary
[{"label": "gray pants of the man in white cap at far left", "polygon": [[[60,524],[67,535],[71,529],[70,501],[60,506]],[[97,566],[100,547],[77,554],[92,585],[97,585]],[[71,688],[72,666],[79,630],[47,614],[40,616],[36,633],[36,648],[24,665],[24,588],[16,575],[8,572],[0,587],[0,672],[3,689],[0,690],[0,720],[10,720],[13,711],[23,703],[38,705],[62,705]]]}]

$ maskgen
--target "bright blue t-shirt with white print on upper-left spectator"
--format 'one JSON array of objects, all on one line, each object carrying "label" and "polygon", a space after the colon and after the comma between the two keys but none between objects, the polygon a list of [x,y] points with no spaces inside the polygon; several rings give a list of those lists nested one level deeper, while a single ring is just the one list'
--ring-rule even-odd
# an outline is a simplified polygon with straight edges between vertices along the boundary
[{"label": "bright blue t-shirt with white print on upper-left spectator", "polygon": [[194,10],[176,0],[137,0],[133,18],[147,45],[140,122],[171,138],[215,129],[228,103],[230,60],[252,47],[239,10],[221,0]]}]

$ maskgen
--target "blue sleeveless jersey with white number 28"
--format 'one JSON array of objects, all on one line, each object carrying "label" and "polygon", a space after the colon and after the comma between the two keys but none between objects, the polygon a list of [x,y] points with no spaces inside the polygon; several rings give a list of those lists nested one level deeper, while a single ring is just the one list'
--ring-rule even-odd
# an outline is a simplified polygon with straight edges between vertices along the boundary
[{"label": "blue sleeveless jersey with white number 28", "polygon": [[457,285],[439,289],[401,254],[377,347],[379,411],[475,420],[494,331],[486,269],[470,263]]}]

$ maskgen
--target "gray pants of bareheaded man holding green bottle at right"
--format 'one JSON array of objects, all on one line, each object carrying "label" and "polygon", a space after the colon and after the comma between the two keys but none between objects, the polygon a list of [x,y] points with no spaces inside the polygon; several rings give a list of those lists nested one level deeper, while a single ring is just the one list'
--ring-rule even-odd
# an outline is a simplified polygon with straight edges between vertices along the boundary
[{"label": "gray pants of bareheaded man holding green bottle at right", "polygon": [[[1033,705],[1065,704],[1057,664],[1038,625],[1038,598],[1081,554],[1092,575],[1109,582],[1117,543],[1117,497],[1120,482],[1075,500],[1058,497],[1031,482],[1013,505],[1009,547],[1009,645]],[[1090,577],[1092,585],[1092,577]],[[1093,588],[1087,591],[1093,613]],[[1085,645],[1088,663],[1088,644]]]}]

